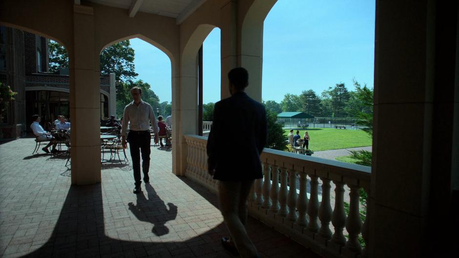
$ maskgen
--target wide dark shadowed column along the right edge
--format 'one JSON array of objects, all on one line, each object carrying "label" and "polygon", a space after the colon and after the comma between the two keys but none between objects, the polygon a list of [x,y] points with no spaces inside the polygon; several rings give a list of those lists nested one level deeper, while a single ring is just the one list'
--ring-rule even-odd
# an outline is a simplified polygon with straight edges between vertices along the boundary
[{"label": "wide dark shadowed column along the right edge", "polygon": [[370,257],[452,246],[438,220],[451,222],[457,5],[376,0]]}]

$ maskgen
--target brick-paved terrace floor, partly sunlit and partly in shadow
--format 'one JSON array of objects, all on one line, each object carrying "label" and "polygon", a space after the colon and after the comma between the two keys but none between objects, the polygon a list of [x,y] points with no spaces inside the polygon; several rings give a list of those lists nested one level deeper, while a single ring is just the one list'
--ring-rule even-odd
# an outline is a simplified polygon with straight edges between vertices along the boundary
[{"label": "brick-paved terrace floor, partly sunlit and partly in shadow", "polygon": [[[150,185],[136,195],[130,165],[105,163],[101,184],[71,186],[65,156],[34,146],[0,145],[0,256],[231,257],[216,196],[173,175],[170,150],[151,147]],[[317,257],[253,218],[248,232],[262,257]]]}]

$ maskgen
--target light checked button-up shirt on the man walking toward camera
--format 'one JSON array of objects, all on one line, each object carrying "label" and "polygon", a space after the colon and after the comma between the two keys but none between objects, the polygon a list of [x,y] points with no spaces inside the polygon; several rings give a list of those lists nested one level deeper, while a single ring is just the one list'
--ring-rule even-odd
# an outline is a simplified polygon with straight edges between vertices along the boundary
[{"label": "light checked button-up shirt on the man walking toward camera", "polygon": [[141,101],[139,106],[134,104],[134,101],[127,104],[125,113],[123,115],[123,125],[121,127],[121,135],[126,136],[126,130],[133,131],[146,131],[151,128],[153,132],[158,133],[158,126],[156,124],[156,116],[150,104]]}]

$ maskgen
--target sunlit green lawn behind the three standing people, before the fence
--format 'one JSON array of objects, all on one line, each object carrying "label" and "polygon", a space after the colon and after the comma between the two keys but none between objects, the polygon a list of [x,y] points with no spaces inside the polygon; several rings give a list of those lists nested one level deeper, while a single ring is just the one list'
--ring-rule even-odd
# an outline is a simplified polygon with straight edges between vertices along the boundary
[{"label": "sunlit green lawn behind the three standing people, before the fence", "polygon": [[[300,130],[303,138],[305,130]],[[313,151],[327,151],[354,147],[371,146],[372,139],[362,130],[346,130],[334,128],[313,128],[307,130],[311,140],[309,149]],[[289,134],[290,129],[285,129],[285,135]],[[293,131],[293,134],[296,130]]]}]

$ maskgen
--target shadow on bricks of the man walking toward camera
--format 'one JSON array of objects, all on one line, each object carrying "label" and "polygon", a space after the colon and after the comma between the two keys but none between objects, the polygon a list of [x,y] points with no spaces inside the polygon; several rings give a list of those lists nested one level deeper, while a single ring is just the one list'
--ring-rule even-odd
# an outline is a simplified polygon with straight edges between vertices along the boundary
[{"label": "shadow on bricks of the man walking toward camera", "polygon": [[177,217],[177,206],[173,203],[166,204],[156,194],[156,191],[150,184],[145,185],[148,199],[144,193],[137,194],[137,205],[132,202],[128,203],[129,210],[139,219],[153,224],[151,232],[156,236],[163,236],[169,233],[165,225],[167,221],[174,220]]}]

